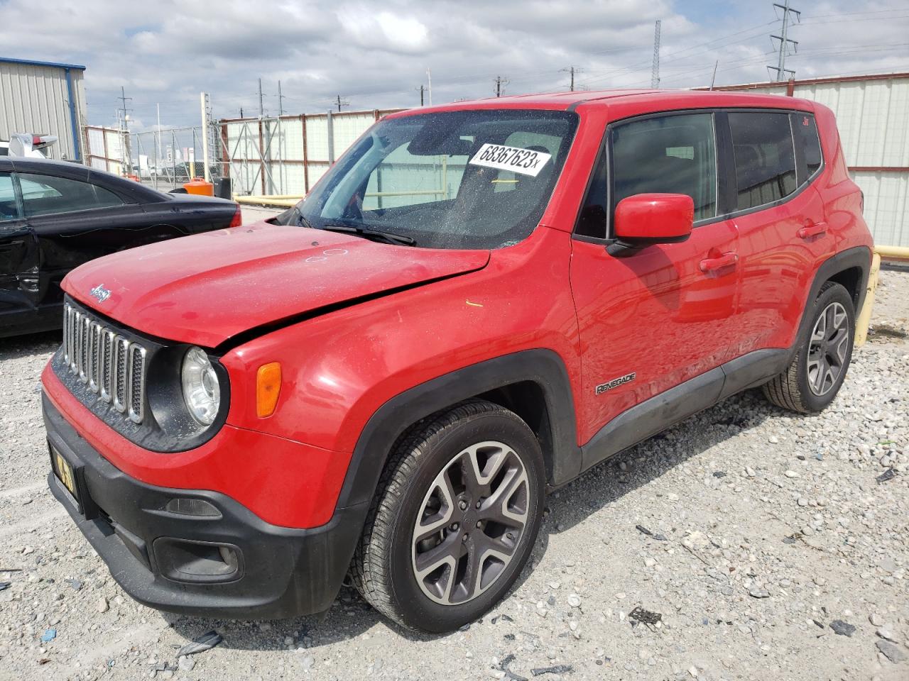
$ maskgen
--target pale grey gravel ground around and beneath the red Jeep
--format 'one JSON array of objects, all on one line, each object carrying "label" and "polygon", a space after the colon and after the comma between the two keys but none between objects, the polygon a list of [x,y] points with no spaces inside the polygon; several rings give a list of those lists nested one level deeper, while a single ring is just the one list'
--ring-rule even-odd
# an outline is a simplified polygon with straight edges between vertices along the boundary
[{"label": "pale grey gravel ground around and beneath the red Jeep", "polygon": [[[533,569],[443,637],[349,589],[321,619],[137,605],[45,489],[55,335],[0,341],[0,678],[906,681],[907,316],[909,272],[882,272],[870,341],[823,415],[749,391],[549,498]],[[178,656],[213,629],[218,646]]]}]

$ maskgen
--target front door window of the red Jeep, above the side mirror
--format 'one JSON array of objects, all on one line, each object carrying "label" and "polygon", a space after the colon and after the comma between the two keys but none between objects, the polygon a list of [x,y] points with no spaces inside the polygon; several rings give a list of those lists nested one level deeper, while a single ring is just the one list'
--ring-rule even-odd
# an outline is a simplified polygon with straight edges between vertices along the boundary
[{"label": "front door window of the red Jeep, above the side mirror", "polygon": [[716,215],[713,114],[680,114],[624,123],[612,133],[615,205],[641,193],[687,194],[694,220]]}]

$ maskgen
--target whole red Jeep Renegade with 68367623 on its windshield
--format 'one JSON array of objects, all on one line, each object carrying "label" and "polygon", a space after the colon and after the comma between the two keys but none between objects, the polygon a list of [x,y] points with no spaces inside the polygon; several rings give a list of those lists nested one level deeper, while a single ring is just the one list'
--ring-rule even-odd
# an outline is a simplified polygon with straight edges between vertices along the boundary
[{"label": "whole red Jeep Renegade with 68367623 on its windshield", "polygon": [[547,489],[740,390],[834,400],[872,245],[833,114],[750,94],[389,115],[270,222],[64,281],[49,484],[152,607],[291,617],[350,574],[472,621]]}]

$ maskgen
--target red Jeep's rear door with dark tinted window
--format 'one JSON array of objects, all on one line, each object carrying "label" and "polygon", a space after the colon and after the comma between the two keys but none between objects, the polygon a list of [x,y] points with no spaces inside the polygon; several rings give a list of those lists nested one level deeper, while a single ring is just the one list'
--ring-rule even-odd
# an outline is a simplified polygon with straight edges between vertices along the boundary
[{"label": "red Jeep's rear door with dark tinted window", "polygon": [[812,182],[822,158],[812,114],[729,112],[740,238],[739,354],[788,348],[821,262],[834,254]]}]

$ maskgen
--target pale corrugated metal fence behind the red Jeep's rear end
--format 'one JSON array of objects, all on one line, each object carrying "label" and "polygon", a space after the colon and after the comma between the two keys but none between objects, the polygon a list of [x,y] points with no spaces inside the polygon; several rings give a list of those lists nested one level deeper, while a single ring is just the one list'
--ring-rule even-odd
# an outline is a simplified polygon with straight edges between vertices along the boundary
[{"label": "pale corrugated metal fence behind the red Jeep's rear end", "polygon": [[909,74],[850,75],[715,90],[787,94],[836,114],[846,163],[864,192],[874,241],[909,246]]}]

